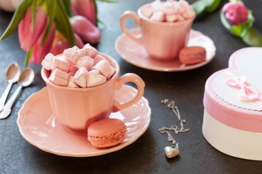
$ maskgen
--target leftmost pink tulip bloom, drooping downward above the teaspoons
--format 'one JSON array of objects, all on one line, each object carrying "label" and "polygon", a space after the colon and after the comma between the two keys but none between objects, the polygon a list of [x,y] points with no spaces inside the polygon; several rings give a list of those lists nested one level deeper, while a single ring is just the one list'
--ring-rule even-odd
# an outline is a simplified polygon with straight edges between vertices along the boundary
[{"label": "leftmost pink tulip bloom, drooping downward above the teaspoons", "polygon": [[42,7],[38,7],[34,30],[31,30],[32,15],[31,9],[28,8],[25,17],[19,23],[18,27],[19,42],[23,50],[28,52],[31,47],[37,43],[37,39],[39,39],[41,34],[45,31],[47,20],[46,11]]}]

